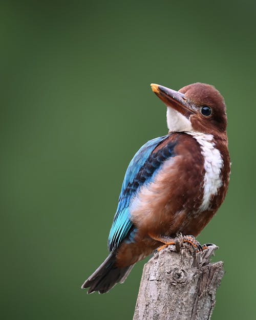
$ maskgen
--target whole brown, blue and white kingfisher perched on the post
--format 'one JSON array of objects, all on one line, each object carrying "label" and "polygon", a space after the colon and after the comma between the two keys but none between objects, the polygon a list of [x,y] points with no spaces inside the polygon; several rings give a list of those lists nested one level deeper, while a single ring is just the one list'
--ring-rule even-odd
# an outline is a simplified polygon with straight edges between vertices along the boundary
[{"label": "whole brown, blue and white kingfisher perched on the post", "polygon": [[83,283],[88,293],[123,283],[136,262],[175,244],[179,233],[202,250],[195,237],[227,193],[230,158],[220,92],[200,82],[179,91],[151,87],[167,106],[168,134],[146,142],[130,162],[109,234],[110,254]]}]

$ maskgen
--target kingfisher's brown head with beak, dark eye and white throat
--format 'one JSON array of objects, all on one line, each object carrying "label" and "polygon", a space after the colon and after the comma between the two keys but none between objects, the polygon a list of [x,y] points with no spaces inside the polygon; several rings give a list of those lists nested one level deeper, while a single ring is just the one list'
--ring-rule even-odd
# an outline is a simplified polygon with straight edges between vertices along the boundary
[{"label": "kingfisher's brown head with beak, dark eye and white throat", "polygon": [[151,87],[167,106],[169,132],[190,131],[219,136],[226,133],[226,106],[215,87],[199,82],[179,91],[155,83]]}]

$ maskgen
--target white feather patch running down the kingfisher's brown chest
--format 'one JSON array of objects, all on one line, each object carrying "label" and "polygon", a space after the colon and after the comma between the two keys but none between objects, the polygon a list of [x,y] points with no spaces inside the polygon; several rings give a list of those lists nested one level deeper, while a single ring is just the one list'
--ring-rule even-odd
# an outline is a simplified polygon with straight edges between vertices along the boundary
[{"label": "white feather patch running down the kingfisher's brown chest", "polygon": [[218,193],[222,186],[221,169],[223,159],[220,151],[215,147],[212,141],[212,135],[206,135],[198,132],[186,132],[193,136],[201,146],[201,154],[204,157],[204,194],[200,210],[204,211],[210,208],[211,197]]}]

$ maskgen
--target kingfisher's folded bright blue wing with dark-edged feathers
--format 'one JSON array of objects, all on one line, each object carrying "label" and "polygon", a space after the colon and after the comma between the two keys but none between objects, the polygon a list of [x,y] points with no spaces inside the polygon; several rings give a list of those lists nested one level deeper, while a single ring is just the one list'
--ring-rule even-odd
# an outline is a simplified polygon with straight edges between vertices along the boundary
[{"label": "kingfisher's folded bright blue wing with dark-edged feathers", "polygon": [[[162,160],[148,160],[150,159],[153,150],[167,137],[168,135],[146,142],[130,162],[124,176],[117,211],[110,230],[110,251],[116,249],[120,245],[121,241],[127,236],[129,231],[131,231],[133,223],[130,220],[130,201],[136,194],[140,185],[152,180],[153,174],[155,173],[156,168],[159,167]],[[150,167],[145,166],[146,162],[150,162]]]}]

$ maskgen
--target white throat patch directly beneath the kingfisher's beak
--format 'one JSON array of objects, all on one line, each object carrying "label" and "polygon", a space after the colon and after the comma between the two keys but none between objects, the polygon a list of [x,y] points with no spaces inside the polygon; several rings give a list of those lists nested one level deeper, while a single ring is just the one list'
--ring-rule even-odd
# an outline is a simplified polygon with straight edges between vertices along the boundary
[{"label": "white throat patch directly beneath the kingfisher's beak", "polygon": [[170,106],[167,106],[166,118],[170,132],[194,131],[189,119]]}]

